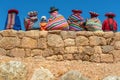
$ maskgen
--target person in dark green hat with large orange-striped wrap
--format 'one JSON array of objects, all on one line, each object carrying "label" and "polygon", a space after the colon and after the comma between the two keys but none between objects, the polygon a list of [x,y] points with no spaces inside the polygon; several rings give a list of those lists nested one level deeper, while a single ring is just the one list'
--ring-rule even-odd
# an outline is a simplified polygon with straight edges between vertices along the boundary
[{"label": "person in dark green hat with large orange-striped wrap", "polygon": [[68,30],[69,25],[66,19],[58,13],[55,7],[50,8],[50,18],[48,19],[47,30]]}]

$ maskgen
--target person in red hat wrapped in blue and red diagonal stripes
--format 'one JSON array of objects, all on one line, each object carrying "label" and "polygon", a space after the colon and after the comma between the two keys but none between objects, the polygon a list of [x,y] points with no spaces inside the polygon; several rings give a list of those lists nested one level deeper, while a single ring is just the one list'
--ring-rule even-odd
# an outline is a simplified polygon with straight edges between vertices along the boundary
[{"label": "person in red hat wrapped in blue and red diagonal stripes", "polygon": [[84,19],[80,15],[82,11],[73,9],[72,12],[73,14],[70,15],[68,18],[69,30],[83,31],[84,30],[83,28]]}]

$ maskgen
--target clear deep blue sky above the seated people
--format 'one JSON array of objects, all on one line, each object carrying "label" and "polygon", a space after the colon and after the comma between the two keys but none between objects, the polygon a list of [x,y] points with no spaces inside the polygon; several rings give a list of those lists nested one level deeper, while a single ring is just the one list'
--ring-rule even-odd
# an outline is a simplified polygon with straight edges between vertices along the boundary
[{"label": "clear deep blue sky above the seated people", "polygon": [[46,16],[49,18],[49,10],[51,6],[59,9],[59,13],[66,19],[72,14],[72,9],[82,10],[81,14],[84,19],[90,18],[89,11],[99,13],[101,22],[106,18],[107,12],[116,14],[115,20],[118,23],[118,31],[120,31],[120,0],[0,0],[0,30],[5,27],[7,12],[9,9],[17,9],[21,20],[22,30],[24,28],[24,18],[27,17],[29,11],[38,11],[38,18]]}]

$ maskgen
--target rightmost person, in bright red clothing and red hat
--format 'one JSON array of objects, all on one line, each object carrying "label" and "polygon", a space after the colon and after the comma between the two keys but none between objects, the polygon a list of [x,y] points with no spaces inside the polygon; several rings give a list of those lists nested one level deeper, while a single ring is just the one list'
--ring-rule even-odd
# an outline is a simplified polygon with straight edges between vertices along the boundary
[{"label": "rightmost person, in bright red clothing and red hat", "polygon": [[109,13],[106,13],[105,16],[107,17],[107,19],[105,19],[102,24],[102,30],[116,32],[117,31],[117,22],[114,20],[114,17],[116,15],[112,12],[109,12]]}]

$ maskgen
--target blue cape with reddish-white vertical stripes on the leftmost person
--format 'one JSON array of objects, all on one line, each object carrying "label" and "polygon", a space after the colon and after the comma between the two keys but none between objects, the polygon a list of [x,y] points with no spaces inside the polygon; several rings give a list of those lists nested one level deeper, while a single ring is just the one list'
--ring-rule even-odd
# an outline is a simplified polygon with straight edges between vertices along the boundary
[{"label": "blue cape with reddish-white vertical stripes on the leftmost person", "polygon": [[5,29],[21,30],[21,22],[19,16],[15,13],[8,14],[5,23]]}]

